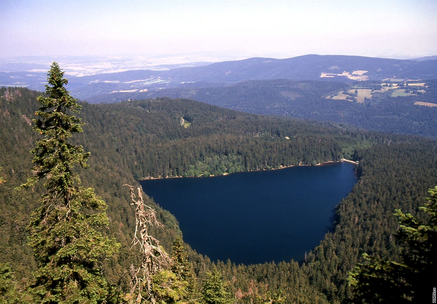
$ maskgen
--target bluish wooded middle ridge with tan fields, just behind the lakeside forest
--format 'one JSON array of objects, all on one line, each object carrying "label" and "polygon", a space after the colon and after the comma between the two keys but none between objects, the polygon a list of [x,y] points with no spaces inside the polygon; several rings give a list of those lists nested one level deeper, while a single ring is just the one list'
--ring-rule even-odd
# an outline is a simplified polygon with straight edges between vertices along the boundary
[{"label": "bluish wooded middle ridge with tan fields, just behind the lakeside forest", "polygon": [[[387,85],[384,87],[381,83],[384,82],[346,84],[333,81],[253,80],[227,87],[102,94],[92,96],[90,100],[118,102],[160,96],[190,98],[247,113],[292,116],[343,123],[366,130],[437,137],[437,106],[415,104],[418,101],[436,104],[435,80],[422,81],[422,86],[402,86],[402,89],[395,89],[399,82],[393,82],[392,86],[384,84]],[[406,93],[406,89],[413,93]],[[366,95],[357,102],[357,95],[361,92]]]}]

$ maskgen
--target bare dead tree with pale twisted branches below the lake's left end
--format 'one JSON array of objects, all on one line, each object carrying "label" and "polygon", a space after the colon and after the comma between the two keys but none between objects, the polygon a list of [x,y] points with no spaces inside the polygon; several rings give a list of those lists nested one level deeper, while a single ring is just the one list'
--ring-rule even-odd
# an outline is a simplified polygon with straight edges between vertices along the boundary
[{"label": "bare dead tree with pale twisted branches below the lake's left end", "polygon": [[142,299],[155,304],[153,296],[152,277],[165,266],[168,266],[170,257],[160,246],[160,242],[149,234],[149,227],[156,228],[162,224],[156,219],[155,209],[144,204],[141,188],[138,187],[137,194],[131,185],[128,186],[131,192],[131,205],[135,205],[135,234],[132,240],[131,250],[138,250],[141,257],[137,267],[131,266],[131,296],[136,297],[135,303],[141,303]]}]

